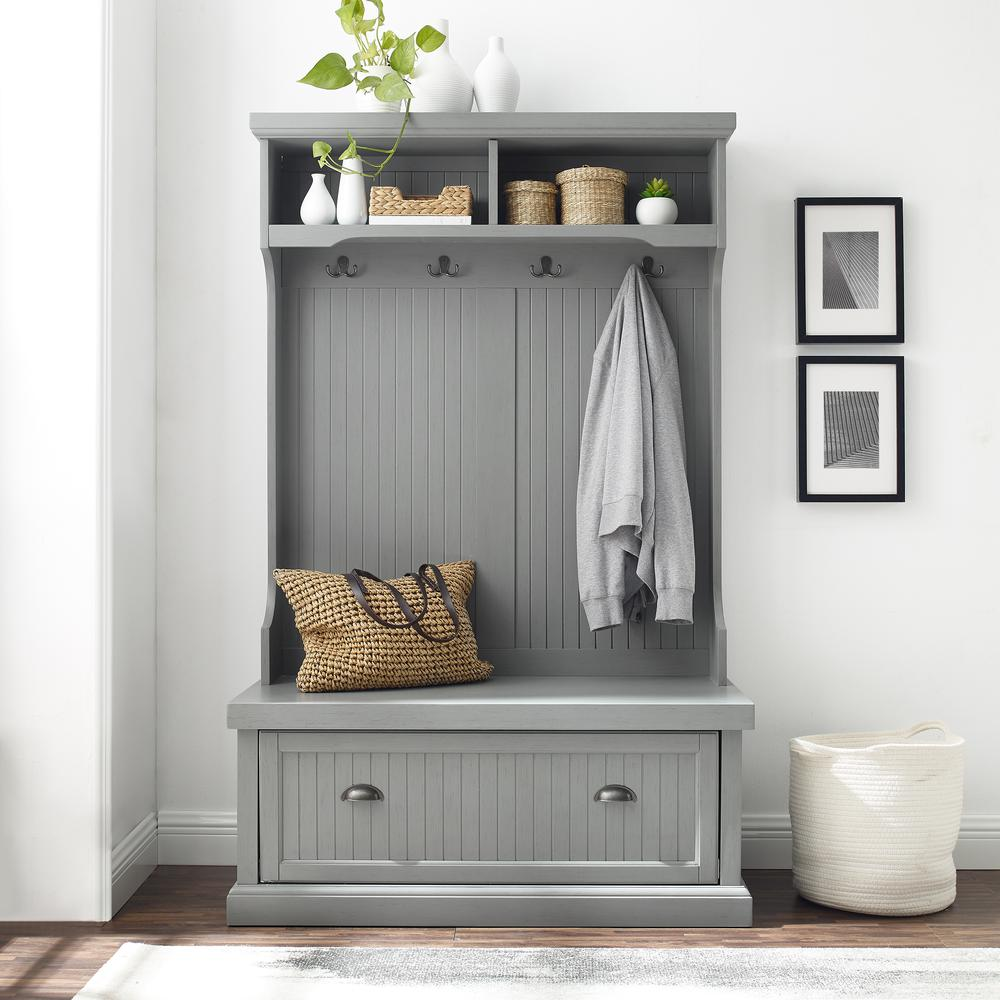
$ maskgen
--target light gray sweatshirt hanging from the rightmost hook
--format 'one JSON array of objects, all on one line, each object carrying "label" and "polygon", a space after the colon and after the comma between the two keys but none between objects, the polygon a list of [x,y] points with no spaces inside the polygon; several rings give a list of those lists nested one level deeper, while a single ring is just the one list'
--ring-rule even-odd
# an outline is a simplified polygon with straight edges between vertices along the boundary
[{"label": "light gray sweatshirt hanging from the rightmost hook", "polygon": [[580,598],[592,630],[690,622],[694,530],[681,383],[667,322],[628,269],[594,351],[576,494]]}]

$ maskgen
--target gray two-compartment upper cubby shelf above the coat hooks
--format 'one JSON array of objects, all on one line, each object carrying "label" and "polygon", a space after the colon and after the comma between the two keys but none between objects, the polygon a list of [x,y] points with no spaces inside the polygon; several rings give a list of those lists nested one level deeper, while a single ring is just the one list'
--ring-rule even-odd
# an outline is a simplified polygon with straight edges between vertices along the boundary
[{"label": "gray two-compartment upper cubby shelf above the coat hooks", "polygon": [[[448,241],[487,239],[635,240],[657,247],[724,245],[724,142],[731,114],[413,114],[399,150],[378,181],[406,194],[436,194],[467,184],[471,226],[303,226],[299,205],[318,170],[312,144],[342,149],[350,131],[364,145],[385,147],[401,116],[393,114],[253,114],[261,141],[268,192],[262,204],[262,245],[330,247],[346,240]],[[625,225],[510,226],[504,185],[510,180],[553,180],[571,167],[611,166],[629,174]],[[652,177],[665,177],[679,215],[673,226],[638,226],[635,204]],[[336,197],[336,179],[328,178]],[[368,182],[370,187],[371,181]]]}]

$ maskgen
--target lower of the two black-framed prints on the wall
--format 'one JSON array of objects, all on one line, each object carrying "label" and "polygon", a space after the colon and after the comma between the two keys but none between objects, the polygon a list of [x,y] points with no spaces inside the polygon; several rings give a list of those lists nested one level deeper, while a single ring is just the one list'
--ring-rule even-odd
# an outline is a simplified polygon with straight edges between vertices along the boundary
[{"label": "lower of the two black-framed prints on the wall", "polygon": [[905,500],[903,359],[798,363],[799,500]]}]

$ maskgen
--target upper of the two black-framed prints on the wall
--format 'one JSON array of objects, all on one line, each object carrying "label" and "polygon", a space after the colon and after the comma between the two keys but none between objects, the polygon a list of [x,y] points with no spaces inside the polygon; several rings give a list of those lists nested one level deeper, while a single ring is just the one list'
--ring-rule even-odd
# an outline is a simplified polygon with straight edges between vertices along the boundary
[{"label": "upper of the two black-framed prints on the wall", "polygon": [[795,199],[800,344],[903,342],[903,199]]}]

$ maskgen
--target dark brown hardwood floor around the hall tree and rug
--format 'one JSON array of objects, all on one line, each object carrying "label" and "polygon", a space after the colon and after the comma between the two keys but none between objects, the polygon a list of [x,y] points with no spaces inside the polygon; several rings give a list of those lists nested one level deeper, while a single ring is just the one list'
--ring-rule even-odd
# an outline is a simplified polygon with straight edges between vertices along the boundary
[{"label": "dark brown hardwood floor around the hall tree and rug", "polygon": [[787,871],[748,871],[745,930],[227,927],[232,868],[161,867],[106,924],[0,924],[0,997],[71,997],[125,941],[410,947],[1000,947],[1000,871],[959,872],[958,900],[930,917],[878,918],[800,899]]}]

